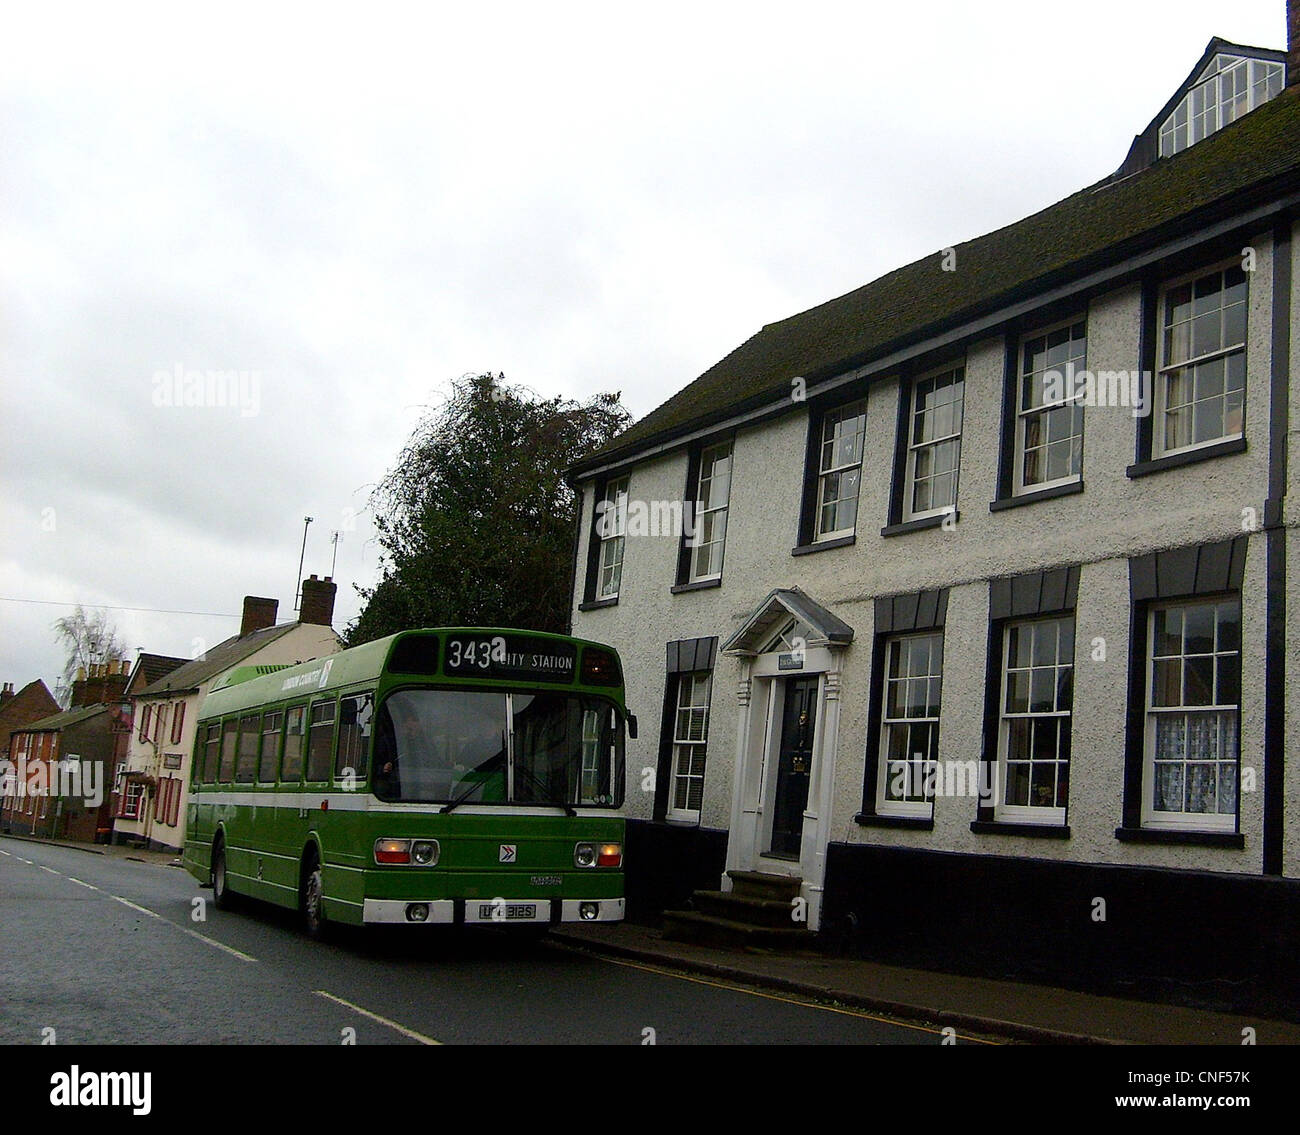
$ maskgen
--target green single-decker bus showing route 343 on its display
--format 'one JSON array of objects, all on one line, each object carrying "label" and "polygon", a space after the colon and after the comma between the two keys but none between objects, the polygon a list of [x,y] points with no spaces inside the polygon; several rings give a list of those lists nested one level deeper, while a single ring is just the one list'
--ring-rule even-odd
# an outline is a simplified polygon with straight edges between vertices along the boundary
[{"label": "green single-decker bus showing route 343 on its display", "polygon": [[238,667],[203,702],[185,866],[332,923],[623,918],[623,670],[608,646],[406,631]]}]

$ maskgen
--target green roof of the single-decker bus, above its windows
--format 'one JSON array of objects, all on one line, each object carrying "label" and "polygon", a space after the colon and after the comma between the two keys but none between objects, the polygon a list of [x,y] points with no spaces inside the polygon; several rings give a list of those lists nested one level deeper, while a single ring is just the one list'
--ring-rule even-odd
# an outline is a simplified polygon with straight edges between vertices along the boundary
[{"label": "green roof of the single-decker bus, above its windows", "polygon": [[[199,711],[200,719],[225,716],[243,710],[256,709],[272,702],[287,702],[299,697],[308,698],[322,690],[338,690],[346,686],[355,686],[364,683],[377,683],[385,673],[389,660],[394,657],[394,650],[399,641],[417,638],[420,636],[445,634],[464,636],[516,636],[529,640],[547,640],[556,644],[573,644],[575,646],[595,646],[615,654],[614,649],[599,642],[585,638],[572,638],[566,634],[550,634],[542,631],[517,631],[500,627],[422,627],[412,631],[402,631],[398,634],[389,634],[386,638],[376,638],[360,646],[341,650],[322,658],[313,658],[308,662],[299,662],[294,666],[242,666],[228,670],[222,673]],[[415,645],[415,644],[412,644]],[[437,662],[436,662],[437,664]],[[439,679],[443,681],[467,681],[464,677],[448,677],[436,670],[420,671],[393,671],[394,677],[415,677],[421,681]],[[503,679],[490,679],[494,684],[502,684]],[[526,680],[521,685],[532,685]],[[554,688],[554,686],[551,686]],[[621,688],[621,680],[614,688]],[[611,688],[612,689],[612,688]]]}]

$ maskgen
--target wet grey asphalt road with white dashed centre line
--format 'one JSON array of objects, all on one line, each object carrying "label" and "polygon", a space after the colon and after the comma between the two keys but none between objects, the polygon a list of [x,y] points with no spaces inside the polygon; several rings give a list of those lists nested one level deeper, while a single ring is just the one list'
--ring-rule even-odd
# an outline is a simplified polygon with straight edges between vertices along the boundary
[{"label": "wet grey asphalt road with white dashed centre line", "polygon": [[[312,943],[177,867],[0,836],[0,1043],[893,1044],[940,1032],[495,931]],[[207,919],[191,917],[205,900]],[[46,1030],[53,1030],[53,1035]],[[350,1030],[352,1030],[350,1032]]]}]

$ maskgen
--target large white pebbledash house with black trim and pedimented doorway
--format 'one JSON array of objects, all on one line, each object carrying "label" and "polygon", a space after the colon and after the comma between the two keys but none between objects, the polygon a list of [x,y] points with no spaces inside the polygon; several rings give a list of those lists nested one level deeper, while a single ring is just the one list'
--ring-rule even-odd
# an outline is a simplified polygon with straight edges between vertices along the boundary
[{"label": "large white pebbledash house with black trim and pedimented doorway", "polygon": [[1212,40],[1115,173],[764,326],[575,467],[573,633],[644,723],[633,909],[1280,988],[1297,14]]}]

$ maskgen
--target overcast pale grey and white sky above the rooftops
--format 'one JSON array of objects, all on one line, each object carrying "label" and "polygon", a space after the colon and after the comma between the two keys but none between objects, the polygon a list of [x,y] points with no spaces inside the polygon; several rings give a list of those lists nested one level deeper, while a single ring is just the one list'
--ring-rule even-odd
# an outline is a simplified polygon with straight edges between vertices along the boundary
[{"label": "overcast pale grey and white sky above the rooftops", "polygon": [[291,616],[306,515],[344,627],[450,380],[641,416],[1112,172],[1213,35],[1284,3],[5,5],[0,677],[77,602],[133,658]]}]

